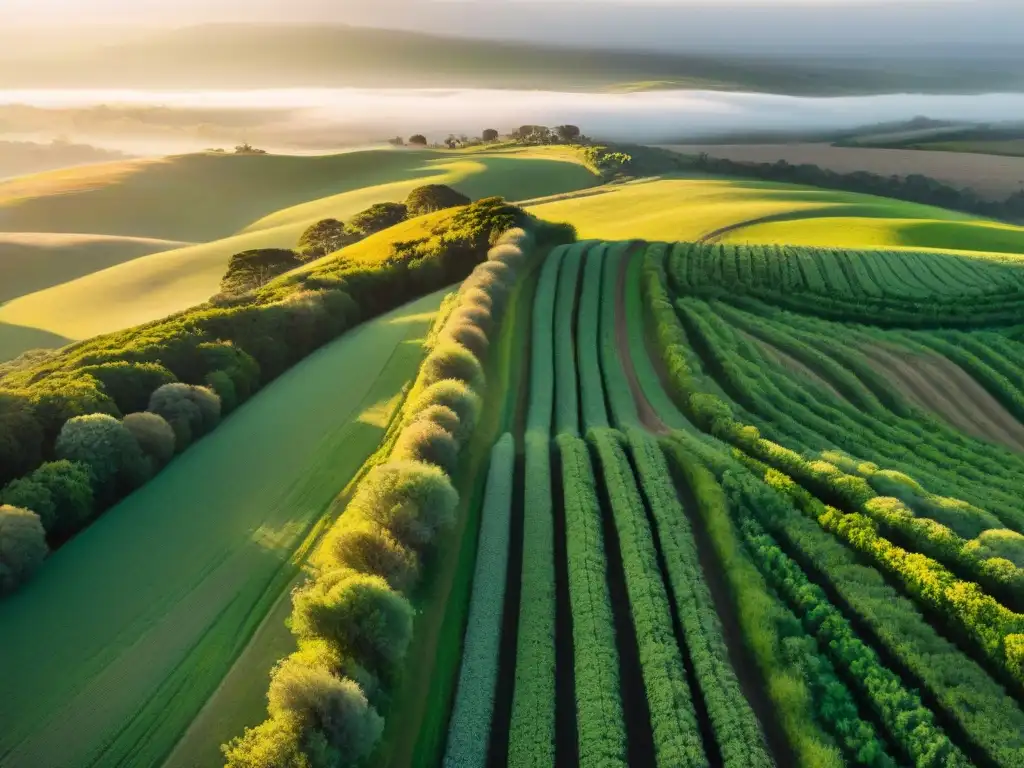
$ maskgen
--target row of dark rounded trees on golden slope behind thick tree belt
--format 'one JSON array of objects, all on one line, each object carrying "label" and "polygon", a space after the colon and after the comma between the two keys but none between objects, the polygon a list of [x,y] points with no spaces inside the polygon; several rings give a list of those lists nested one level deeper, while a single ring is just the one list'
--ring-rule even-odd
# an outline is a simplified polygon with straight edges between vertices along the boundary
[{"label": "row of dark rounded trees on golden slope behind thick tree belt", "polygon": [[259,290],[274,278],[307,261],[340,251],[409,218],[466,206],[471,202],[465,195],[444,184],[426,184],[413,189],[403,203],[376,203],[347,222],[335,218],[321,219],[302,232],[294,250],[256,248],[231,256],[220,282],[220,291],[225,296],[237,296]]}]

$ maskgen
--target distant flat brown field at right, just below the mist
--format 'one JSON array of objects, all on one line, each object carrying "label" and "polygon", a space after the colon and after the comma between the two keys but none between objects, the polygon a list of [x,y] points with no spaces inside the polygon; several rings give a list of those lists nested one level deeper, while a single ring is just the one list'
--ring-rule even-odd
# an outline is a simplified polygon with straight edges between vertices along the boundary
[{"label": "distant flat brown field at right, just below the mist", "polygon": [[1004,200],[1024,187],[1024,158],[924,150],[797,144],[678,144],[666,150],[686,155],[706,152],[714,158],[753,163],[784,160],[813,163],[838,173],[868,171],[907,176],[920,173],[959,187],[971,187],[991,200]]}]

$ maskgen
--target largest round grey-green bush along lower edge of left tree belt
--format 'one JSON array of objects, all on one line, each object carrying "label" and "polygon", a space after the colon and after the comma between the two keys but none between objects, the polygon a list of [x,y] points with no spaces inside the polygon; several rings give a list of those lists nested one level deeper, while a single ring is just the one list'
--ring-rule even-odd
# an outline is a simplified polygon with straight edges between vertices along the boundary
[{"label": "largest round grey-green bush along lower edge of left tree belt", "polygon": [[86,465],[100,497],[120,496],[138,487],[153,473],[135,436],[105,414],[69,420],[57,436],[56,453],[59,459]]}]

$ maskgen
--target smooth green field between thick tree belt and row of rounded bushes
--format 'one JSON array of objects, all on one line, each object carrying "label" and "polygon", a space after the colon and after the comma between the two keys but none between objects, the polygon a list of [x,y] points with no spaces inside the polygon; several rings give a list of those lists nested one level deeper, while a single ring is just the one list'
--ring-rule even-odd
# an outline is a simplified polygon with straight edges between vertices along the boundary
[{"label": "smooth green field between thick tree belt and row of rounded bushes", "polygon": [[[442,295],[296,366],[0,605],[5,766],[142,766],[168,754],[381,439]],[[251,668],[203,710],[177,764],[219,765],[219,743],[262,720],[271,657],[247,654]]]}]

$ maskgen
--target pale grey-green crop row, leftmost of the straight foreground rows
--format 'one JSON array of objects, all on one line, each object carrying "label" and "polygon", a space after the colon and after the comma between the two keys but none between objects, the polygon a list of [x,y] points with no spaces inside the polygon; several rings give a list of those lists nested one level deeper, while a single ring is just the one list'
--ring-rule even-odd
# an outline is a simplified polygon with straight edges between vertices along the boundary
[{"label": "pale grey-green crop row, leftmost of the straight foreground rows", "polygon": [[445,768],[486,765],[498,686],[514,469],[515,440],[506,432],[490,451],[462,668],[444,753]]}]

